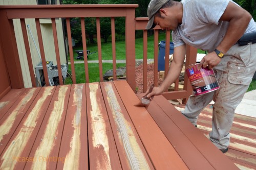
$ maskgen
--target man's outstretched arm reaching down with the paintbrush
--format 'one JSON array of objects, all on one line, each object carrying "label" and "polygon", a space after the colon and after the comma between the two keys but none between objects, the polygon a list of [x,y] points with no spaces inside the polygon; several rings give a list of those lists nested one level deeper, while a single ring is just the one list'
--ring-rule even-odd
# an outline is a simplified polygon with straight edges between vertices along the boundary
[{"label": "man's outstretched arm reaching down with the paintbrush", "polygon": [[[154,87],[152,92],[147,94],[150,98],[152,95],[159,95],[167,89],[170,84],[175,82],[175,80],[180,76],[181,69],[183,67],[184,59],[186,54],[186,45],[177,46],[174,48],[174,58],[170,64],[168,73],[164,78],[164,81],[159,87]],[[147,90],[148,91],[148,90]]]}]

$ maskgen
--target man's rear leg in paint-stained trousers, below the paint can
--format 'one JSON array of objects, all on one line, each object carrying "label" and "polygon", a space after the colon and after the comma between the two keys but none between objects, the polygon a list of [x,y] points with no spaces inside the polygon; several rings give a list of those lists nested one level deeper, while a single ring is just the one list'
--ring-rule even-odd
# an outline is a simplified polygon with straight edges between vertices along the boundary
[{"label": "man's rear leg in paint-stained trousers, below the paint can", "polygon": [[186,116],[194,126],[196,126],[198,115],[212,101],[213,95],[214,91],[198,96],[190,95],[187,100],[185,110],[181,111],[181,113]]}]

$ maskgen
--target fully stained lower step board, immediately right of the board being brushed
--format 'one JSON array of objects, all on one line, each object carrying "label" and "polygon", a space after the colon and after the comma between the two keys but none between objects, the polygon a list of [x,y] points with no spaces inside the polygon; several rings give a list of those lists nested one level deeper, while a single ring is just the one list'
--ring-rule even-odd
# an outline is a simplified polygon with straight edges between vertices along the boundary
[{"label": "fully stained lower step board, immediately right of the board being brushed", "polygon": [[[142,94],[137,95],[139,98]],[[165,99],[156,99],[158,102]],[[200,164],[201,169],[214,169],[211,164],[205,159],[205,157],[197,150],[195,145],[190,142],[189,138],[175,125],[172,119],[170,119],[165,112],[157,107],[155,100],[151,101],[151,104],[146,107],[147,111],[154,118],[157,125],[161,128],[169,142],[175,146],[175,150],[182,157],[183,161],[190,169],[198,169]],[[170,106],[170,112],[175,111],[175,108]],[[186,120],[184,120],[186,121]],[[190,128],[195,128],[193,125]],[[179,136],[179,137],[177,137]]]}]

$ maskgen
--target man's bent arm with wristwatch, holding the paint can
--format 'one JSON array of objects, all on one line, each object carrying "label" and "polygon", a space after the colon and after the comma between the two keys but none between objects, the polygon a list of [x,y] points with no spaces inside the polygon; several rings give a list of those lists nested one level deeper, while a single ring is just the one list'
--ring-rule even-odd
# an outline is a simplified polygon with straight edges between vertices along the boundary
[{"label": "man's bent arm with wristwatch, holding the paint can", "polygon": [[[242,37],[251,20],[251,15],[245,9],[229,2],[220,20],[229,22],[226,35],[217,46],[217,50],[225,54]],[[208,65],[208,68],[212,69],[220,61],[221,58],[215,52],[211,52],[201,60],[201,63],[203,63],[203,67]]]}]

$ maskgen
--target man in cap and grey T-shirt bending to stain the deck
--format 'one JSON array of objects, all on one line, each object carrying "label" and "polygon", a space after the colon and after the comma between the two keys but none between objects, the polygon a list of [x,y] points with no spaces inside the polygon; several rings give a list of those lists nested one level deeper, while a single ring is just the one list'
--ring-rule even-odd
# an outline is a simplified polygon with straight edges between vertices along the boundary
[{"label": "man in cap and grey T-shirt bending to stain the deck", "polygon": [[231,0],[152,0],[147,15],[146,29],[159,25],[162,30],[173,30],[174,42],[174,58],[168,74],[147,97],[161,94],[178,78],[186,44],[207,51],[201,60],[202,66],[214,68],[220,89],[191,95],[182,113],[197,126],[200,111],[214,100],[210,140],[223,153],[227,152],[234,110],[256,69],[255,41],[241,46],[238,40],[244,34],[256,35],[252,34],[256,31],[256,23],[246,10]]}]

